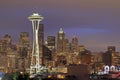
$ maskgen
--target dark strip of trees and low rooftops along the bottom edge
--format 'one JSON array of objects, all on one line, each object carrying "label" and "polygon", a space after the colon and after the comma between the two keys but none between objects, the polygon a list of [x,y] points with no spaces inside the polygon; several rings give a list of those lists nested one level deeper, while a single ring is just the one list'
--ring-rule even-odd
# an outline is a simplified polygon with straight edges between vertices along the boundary
[{"label": "dark strip of trees and low rooftops along the bottom edge", "polygon": [[118,78],[110,78],[108,75],[90,75],[88,79],[82,78],[78,79],[74,75],[67,75],[67,76],[60,76],[59,78],[56,76],[51,76],[51,77],[42,77],[41,75],[37,75],[34,78],[29,78],[28,73],[6,73],[4,74],[2,80],[120,80],[120,76]]}]

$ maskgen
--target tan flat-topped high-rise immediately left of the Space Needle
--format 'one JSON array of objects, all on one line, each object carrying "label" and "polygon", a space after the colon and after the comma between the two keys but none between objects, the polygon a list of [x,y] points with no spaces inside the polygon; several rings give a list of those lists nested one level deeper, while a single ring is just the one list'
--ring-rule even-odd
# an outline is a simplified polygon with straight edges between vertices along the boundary
[{"label": "tan flat-topped high-rise immediately left of the Space Needle", "polygon": [[21,32],[18,44],[17,68],[25,71],[30,66],[30,37],[28,32]]}]

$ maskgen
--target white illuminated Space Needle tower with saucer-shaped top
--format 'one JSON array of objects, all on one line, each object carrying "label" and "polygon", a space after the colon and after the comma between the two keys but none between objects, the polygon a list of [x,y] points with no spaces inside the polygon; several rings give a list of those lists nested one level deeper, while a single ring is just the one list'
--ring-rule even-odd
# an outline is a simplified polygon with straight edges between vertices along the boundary
[{"label": "white illuminated Space Needle tower with saucer-shaped top", "polygon": [[28,17],[32,22],[33,27],[33,48],[32,48],[32,57],[30,65],[30,74],[39,73],[42,66],[40,64],[40,54],[39,54],[39,42],[38,42],[38,30],[40,21],[43,20],[43,17],[38,13],[33,13]]}]

